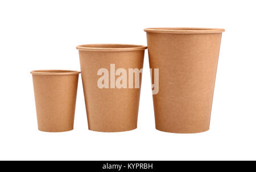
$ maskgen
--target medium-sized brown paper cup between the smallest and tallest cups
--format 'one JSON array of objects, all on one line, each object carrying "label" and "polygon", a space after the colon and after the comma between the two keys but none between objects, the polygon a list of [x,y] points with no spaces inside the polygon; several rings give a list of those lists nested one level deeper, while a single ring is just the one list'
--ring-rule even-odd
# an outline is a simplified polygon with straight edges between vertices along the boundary
[{"label": "medium-sized brown paper cup between the smallest and tallest cups", "polygon": [[[143,67],[146,48],[141,45],[121,44],[77,46],[89,130],[121,132],[137,128],[140,85],[139,88],[135,88],[135,86],[133,88],[128,88],[128,86],[127,88],[117,88],[116,86],[113,88],[111,83],[114,83],[113,80],[116,81],[119,76],[116,75],[113,79],[110,64],[115,65],[115,71],[118,68],[127,71],[128,84],[129,68],[141,69]],[[98,75],[100,68],[105,68],[109,72],[106,81],[109,85],[108,88],[98,87],[98,79],[101,77]],[[141,84],[141,77],[139,75],[139,84]],[[112,88],[110,88],[111,85]]]}]

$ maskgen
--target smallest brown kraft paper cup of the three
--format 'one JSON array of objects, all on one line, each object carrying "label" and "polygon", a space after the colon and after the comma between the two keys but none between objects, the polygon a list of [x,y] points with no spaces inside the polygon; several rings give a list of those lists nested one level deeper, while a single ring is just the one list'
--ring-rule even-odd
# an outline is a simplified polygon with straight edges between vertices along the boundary
[{"label": "smallest brown kraft paper cup of the three", "polygon": [[46,132],[73,130],[79,71],[31,71],[38,129]]}]

